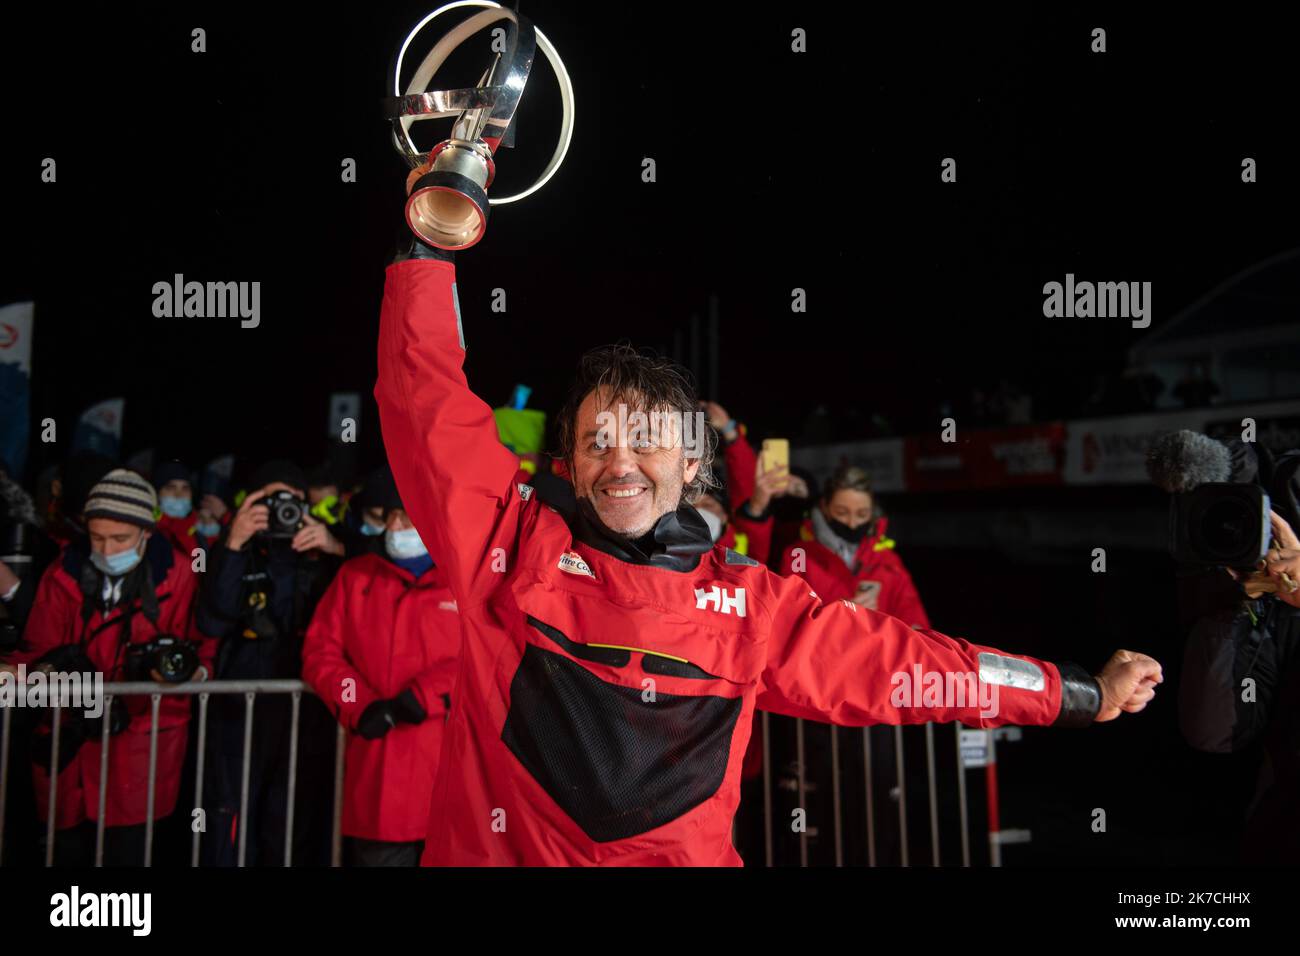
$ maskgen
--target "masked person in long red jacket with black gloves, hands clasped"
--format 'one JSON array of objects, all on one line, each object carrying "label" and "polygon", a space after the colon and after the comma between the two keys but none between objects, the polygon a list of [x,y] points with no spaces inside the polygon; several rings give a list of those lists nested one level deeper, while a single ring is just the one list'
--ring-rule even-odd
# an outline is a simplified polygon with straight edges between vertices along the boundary
[{"label": "masked person in long red jacket with black gloves, hands clasped", "polygon": [[460,649],[456,601],[391,473],[365,486],[385,510],[384,554],[339,568],[307,628],[303,680],[352,731],[343,835],[354,866],[415,866],[429,823]]}]

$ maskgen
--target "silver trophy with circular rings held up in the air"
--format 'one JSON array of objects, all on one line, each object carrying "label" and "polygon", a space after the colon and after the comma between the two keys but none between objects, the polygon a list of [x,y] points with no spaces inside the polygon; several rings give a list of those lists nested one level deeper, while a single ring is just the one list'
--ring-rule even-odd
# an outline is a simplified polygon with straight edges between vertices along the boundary
[{"label": "silver trophy with circular rings held up in the air", "polygon": [[[486,9],[462,21],[438,40],[403,92],[402,64],[416,34],[437,17],[463,7]],[[506,21],[502,49],[478,81],[478,86],[464,90],[428,88],[434,74],[456,47],[500,21]],[[514,146],[514,129],[510,124],[528,83],[528,72],[538,48],[550,61],[560,86],[564,113],[559,143],[532,186],[514,195],[489,199],[488,187],[491,186],[497,173],[495,155],[499,148]],[[560,168],[569,140],[573,138],[573,85],[555,47],[526,17],[491,0],[456,0],[436,9],[407,34],[393,68],[393,96],[385,101],[385,114],[393,120],[393,143],[411,168],[419,169],[432,164],[428,172],[416,179],[407,199],[406,216],[411,230],[422,242],[438,248],[468,248],[484,237],[490,207],[504,206],[532,195]],[[417,120],[443,117],[456,117],[451,137],[429,152],[420,152],[411,138],[411,125]]]}]

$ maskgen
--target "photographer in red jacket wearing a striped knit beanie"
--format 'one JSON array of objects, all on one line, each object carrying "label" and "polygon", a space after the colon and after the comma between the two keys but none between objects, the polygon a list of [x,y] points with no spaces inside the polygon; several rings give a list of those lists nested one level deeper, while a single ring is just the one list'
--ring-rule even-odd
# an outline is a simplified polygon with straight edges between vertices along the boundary
[{"label": "photographer in red jacket wearing a striped knit beanie", "polygon": [[[14,654],[14,663],[29,670],[44,665],[58,672],[99,671],[104,680],[205,679],[214,641],[192,624],[196,579],[188,555],[155,533],[156,506],[150,484],[125,468],[110,471],[91,489],[83,511],[87,537],[68,544],[42,575],[25,632],[27,646]],[[100,723],[81,717],[92,706],[82,701],[62,711],[55,808],[60,865],[94,858],[90,823],[99,819]],[[144,856],[151,702],[140,696],[118,697],[100,719],[109,721],[112,735],[105,862],[138,865]],[[155,819],[176,808],[188,721],[187,697],[162,697]],[[49,728],[38,732],[32,780],[40,816],[48,818]]]}]

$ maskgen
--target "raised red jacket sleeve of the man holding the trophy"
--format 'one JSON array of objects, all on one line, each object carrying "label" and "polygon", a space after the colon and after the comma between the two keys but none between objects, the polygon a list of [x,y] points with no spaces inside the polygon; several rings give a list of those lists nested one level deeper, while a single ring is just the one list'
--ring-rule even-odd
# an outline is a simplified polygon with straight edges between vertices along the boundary
[{"label": "raised red jacket sleeve of the man holding the trophy", "polygon": [[500,558],[512,559],[520,511],[517,458],[469,390],[464,358],[451,261],[390,265],[374,386],[384,446],[402,503],[462,606],[499,580]]}]

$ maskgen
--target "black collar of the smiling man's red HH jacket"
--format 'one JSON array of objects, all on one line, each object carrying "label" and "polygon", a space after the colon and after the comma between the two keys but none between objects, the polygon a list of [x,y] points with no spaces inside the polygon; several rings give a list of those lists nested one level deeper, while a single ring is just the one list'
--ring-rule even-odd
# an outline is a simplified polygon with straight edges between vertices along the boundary
[{"label": "black collar of the smiling man's red HH jacket", "polygon": [[550,499],[543,501],[560,512],[576,541],[619,561],[668,571],[694,571],[699,566],[699,555],[714,546],[708,524],[690,505],[679,505],[676,511],[670,511],[655,522],[646,535],[630,540],[606,528],[592,502],[576,498],[572,485],[564,484],[567,493],[547,496]]}]

